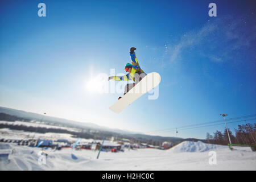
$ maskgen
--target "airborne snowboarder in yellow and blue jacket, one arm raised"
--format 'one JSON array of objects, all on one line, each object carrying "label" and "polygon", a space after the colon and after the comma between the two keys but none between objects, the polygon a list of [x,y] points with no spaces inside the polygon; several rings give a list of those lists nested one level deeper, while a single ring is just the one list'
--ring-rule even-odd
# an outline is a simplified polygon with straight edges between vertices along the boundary
[{"label": "airborne snowboarder in yellow and blue jacket, one arm raised", "polygon": [[[125,86],[125,92],[123,95],[125,95],[127,92],[129,92],[130,89],[132,89],[136,84],[138,84],[139,81],[142,80],[144,76],[146,76],[146,73],[139,67],[139,62],[137,60],[137,57],[135,55],[135,47],[130,48],[130,56],[131,56],[131,64],[127,63],[125,65],[125,71],[128,73],[127,75],[124,76],[110,76],[109,80],[117,80],[117,81],[128,81],[128,80],[133,80],[135,83],[134,84],[127,84]],[[118,100],[122,98],[119,97]]]}]

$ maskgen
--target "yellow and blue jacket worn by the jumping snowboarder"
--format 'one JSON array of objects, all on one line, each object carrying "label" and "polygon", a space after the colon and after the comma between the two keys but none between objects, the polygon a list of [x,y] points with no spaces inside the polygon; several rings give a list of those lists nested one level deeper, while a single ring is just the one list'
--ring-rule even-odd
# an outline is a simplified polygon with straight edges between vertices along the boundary
[{"label": "yellow and blue jacket worn by the jumping snowboarder", "polygon": [[128,73],[127,75],[124,75],[124,76],[113,76],[113,80],[117,80],[117,81],[128,81],[128,80],[133,80],[135,82],[135,78],[134,78],[134,74],[136,72],[138,73],[145,73],[141,67],[139,67],[139,62],[137,60],[137,57],[135,55],[135,52],[134,53],[131,53],[130,54],[131,56],[131,64],[132,64],[132,68],[131,68],[131,73]]}]

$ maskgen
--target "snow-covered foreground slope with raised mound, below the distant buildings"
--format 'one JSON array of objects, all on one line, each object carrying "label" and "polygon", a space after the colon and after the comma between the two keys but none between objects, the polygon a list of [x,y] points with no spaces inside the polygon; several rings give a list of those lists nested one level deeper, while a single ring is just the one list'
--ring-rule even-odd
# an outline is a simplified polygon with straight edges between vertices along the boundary
[{"label": "snow-covered foreground slope with raised mound, below the distant buildings", "polygon": [[[9,160],[0,160],[1,170],[256,170],[256,153],[250,147],[203,142],[182,142],[169,150],[144,148],[124,152],[93,150],[45,150],[46,164],[39,164],[42,148],[0,143],[0,154],[9,150]],[[216,152],[217,164],[209,164],[209,152]]]}]

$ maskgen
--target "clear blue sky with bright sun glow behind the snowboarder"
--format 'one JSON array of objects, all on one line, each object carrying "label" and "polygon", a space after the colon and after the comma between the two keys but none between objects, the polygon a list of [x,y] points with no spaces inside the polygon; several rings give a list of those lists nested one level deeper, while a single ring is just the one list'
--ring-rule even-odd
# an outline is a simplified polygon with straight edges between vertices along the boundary
[{"label": "clear blue sky with bright sun glow behind the snowboarder", "polygon": [[[46,17],[38,4],[46,4]],[[209,17],[208,5],[217,5]],[[175,136],[174,128],[255,114],[253,1],[1,1],[0,105],[102,126]],[[120,94],[89,92],[110,69],[125,73],[129,49],[162,77],[159,98],[120,114]],[[255,121],[251,121],[255,122]],[[237,128],[238,123],[229,125]],[[224,125],[179,132],[205,138]]]}]

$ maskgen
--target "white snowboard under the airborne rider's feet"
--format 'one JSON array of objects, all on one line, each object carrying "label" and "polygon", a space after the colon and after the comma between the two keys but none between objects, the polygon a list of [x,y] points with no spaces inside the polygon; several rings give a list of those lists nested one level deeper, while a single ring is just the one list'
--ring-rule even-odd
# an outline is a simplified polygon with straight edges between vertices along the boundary
[{"label": "white snowboard under the airborne rider's feet", "polygon": [[137,100],[143,94],[147,93],[151,89],[155,88],[160,84],[161,77],[159,73],[152,72],[148,73],[138,82],[132,89],[129,90],[122,98],[115,102],[112,106],[109,107],[114,113],[120,113],[123,109]]}]

